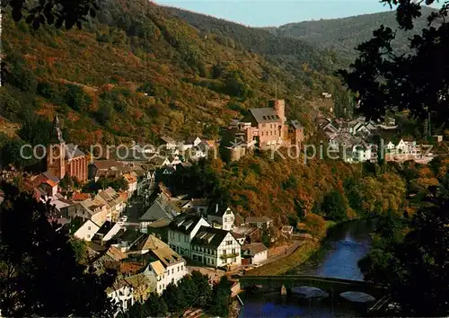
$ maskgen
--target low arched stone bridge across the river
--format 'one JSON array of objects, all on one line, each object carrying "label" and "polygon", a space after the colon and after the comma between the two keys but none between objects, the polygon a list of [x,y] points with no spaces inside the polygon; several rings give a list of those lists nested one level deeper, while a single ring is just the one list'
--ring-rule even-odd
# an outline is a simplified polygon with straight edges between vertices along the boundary
[{"label": "low arched stone bridge across the river", "polygon": [[326,278],[308,275],[281,275],[281,276],[242,276],[240,277],[242,289],[260,285],[263,290],[279,291],[282,286],[287,289],[292,287],[310,286],[320,288],[329,294],[335,295],[348,292],[362,292],[376,299],[386,294],[384,287],[375,286],[361,280],[350,280],[341,278]]}]

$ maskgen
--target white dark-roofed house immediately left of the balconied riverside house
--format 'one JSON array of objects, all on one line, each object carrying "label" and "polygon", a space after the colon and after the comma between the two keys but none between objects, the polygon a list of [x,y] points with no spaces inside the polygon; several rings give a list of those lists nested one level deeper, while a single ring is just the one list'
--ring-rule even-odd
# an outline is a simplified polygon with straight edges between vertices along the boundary
[{"label": "white dark-roofed house immediately left of the balconied riverside house", "polygon": [[191,257],[190,243],[201,226],[210,226],[196,214],[181,214],[173,218],[168,226],[168,243],[173,251]]}]

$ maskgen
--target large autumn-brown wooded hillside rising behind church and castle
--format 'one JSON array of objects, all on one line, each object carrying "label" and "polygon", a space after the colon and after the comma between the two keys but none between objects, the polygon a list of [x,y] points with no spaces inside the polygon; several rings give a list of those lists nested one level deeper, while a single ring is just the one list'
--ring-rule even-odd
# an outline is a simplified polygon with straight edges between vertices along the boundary
[{"label": "large autumn-brown wooded hillside rising behind church and castle", "polygon": [[[294,75],[145,0],[108,0],[82,31],[33,31],[9,13],[3,22],[0,115],[27,142],[45,144],[55,114],[67,140],[82,146],[160,134],[216,137],[247,108],[265,106],[275,86],[287,116],[312,128],[312,110],[331,106],[321,92],[342,92],[326,56],[312,46],[293,45]],[[284,45],[277,49],[287,54]]]}]

